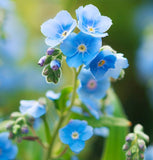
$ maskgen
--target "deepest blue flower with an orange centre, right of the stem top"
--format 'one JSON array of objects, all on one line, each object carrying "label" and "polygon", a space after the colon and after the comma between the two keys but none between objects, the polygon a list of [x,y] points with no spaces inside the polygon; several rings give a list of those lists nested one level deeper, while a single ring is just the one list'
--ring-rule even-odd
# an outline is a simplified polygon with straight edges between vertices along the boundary
[{"label": "deepest blue flower with an orange centre, right of the stem top", "polygon": [[89,64],[93,76],[97,79],[103,79],[109,69],[115,68],[116,56],[109,50],[102,50],[94,60]]}]

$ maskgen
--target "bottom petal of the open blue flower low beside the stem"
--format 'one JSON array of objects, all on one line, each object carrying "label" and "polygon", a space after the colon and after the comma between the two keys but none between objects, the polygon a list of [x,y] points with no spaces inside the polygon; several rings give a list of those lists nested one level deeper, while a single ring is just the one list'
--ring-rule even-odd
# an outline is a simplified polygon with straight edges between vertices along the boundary
[{"label": "bottom petal of the open blue flower low beside the stem", "polygon": [[73,152],[75,153],[79,153],[81,150],[84,149],[85,147],[85,142],[84,141],[81,141],[81,140],[75,140],[73,141],[73,143],[71,143],[70,145],[70,148]]}]

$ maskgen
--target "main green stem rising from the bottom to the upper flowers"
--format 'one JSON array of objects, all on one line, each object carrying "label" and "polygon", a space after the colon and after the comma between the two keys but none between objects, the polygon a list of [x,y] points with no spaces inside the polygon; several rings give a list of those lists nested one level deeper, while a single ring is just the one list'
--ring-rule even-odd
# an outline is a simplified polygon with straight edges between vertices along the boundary
[{"label": "main green stem rising from the bottom to the upper flowers", "polygon": [[77,89],[77,78],[78,78],[78,75],[79,75],[81,69],[82,69],[82,66],[79,67],[78,71],[76,71],[76,69],[74,68],[74,76],[75,77],[74,77],[74,84],[73,84],[73,92],[72,92],[71,103],[70,103],[70,106],[68,107],[67,112],[63,112],[61,117],[60,117],[60,119],[59,119],[59,122],[57,124],[56,130],[53,133],[53,137],[52,137],[52,140],[51,140],[50,145],[49,145],[49,149],[48,149],[48,153],[47,153],[47,156],[46,156],[46,160],[49,160],[50,157],[52,158],[53,147],[54,147],[54,143],[55,143],[56,137],[58,135],[58,131],[59,131],[60,127],[62,126],[65,118],[69,114],[70,109],[72,108],[72,106],[74,104],[75,97],[76,97],[76,89]]}]

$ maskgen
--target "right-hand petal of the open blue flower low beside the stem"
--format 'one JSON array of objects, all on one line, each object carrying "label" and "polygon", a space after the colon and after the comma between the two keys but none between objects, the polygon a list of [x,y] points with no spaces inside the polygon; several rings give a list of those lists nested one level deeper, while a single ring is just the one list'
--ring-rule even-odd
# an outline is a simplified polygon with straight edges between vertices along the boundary
[{"label": "right-hand petal of the open blue flower low beside the stem", "polygon": [[82,141],[86,141],[93,136],[93,128],[91,126],[87,126],[86,129],[81,133],[80,139]]}]

